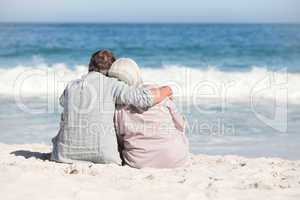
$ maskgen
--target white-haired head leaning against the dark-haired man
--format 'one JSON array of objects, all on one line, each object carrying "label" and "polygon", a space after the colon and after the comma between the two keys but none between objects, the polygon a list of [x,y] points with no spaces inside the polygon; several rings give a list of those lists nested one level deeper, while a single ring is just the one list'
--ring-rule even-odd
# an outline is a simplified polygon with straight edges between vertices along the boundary
[{"label": "white-haired head leaning against the dark-haired man", "polygon": [[140,68],[130,58],[120,58],[115,61],[108,71],[108,76],[117,78],[130,86],[138,86],[142,83]]}]

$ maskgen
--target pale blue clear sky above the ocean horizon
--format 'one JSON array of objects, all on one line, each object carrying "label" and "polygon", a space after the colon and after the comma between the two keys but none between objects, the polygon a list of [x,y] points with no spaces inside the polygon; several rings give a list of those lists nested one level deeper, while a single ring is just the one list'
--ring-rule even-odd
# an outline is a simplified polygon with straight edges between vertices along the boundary
[{"label": "pale blue clear sky above the ocean horizon", "polygon": [[300,0],[0,0],[0,22],[300,23]]}]

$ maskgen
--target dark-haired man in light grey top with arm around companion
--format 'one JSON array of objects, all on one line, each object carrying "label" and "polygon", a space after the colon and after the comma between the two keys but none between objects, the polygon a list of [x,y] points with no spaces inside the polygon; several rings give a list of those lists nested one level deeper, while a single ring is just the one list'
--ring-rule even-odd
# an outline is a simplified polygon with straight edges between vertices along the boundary
[{"label": "dark-haired man in light grey top with arm around companion", "polygon": [[168,86],[134,88],[107,77],[114,61],[110,51],[94,53],[89,73],[65,88],[60,98],[64,108],[60,130],[52,139],[52,160],[121,164],[113,123],[116,104],[148,108],[172,95]]}]

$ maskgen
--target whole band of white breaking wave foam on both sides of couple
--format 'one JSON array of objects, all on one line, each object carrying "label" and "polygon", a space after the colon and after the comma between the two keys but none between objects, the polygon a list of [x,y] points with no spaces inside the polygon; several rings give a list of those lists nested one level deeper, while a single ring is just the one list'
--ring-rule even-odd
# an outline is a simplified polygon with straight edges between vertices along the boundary
[{"label": "whole band of white breaking wave foam on both sides of couple", "polygon": [[[58,96],[69,81],[80,78],[86,72],[86,66],[70,69],[65,64],[0,69],[0,94]],[[146,82],[171,85],[176,96],[180,97],[242,101],[276,99],[300,104],[300,74],[285,70],[275,72],[252,67],[247,72],[229,72],[214,67],[165,66],[143,68],[142,75]]]}]

